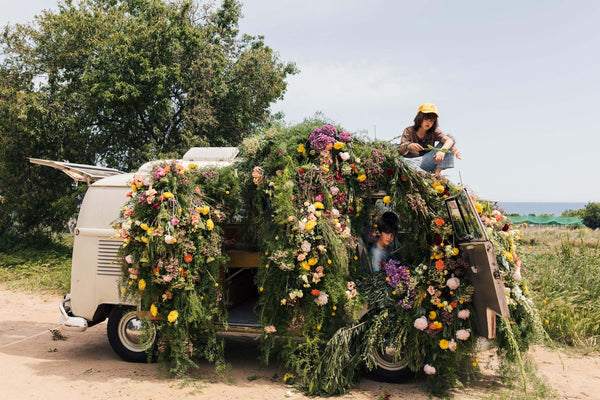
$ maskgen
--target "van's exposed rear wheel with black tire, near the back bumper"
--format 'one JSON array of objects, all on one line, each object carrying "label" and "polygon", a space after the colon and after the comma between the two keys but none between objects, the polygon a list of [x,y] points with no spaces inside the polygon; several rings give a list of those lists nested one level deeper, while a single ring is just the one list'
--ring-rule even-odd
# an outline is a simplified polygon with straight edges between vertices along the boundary
[{"label": "van's exposed rear wheel with black tire, near the back bumper", "polygon": [[108,316],[106,335],[115,353],[129,362],[148,362],[147,350],[152,349],[156,342],[156,328],[152,326],[152,339],[140,343],[142,321],[138,319],[133,307],[115,307]]}]

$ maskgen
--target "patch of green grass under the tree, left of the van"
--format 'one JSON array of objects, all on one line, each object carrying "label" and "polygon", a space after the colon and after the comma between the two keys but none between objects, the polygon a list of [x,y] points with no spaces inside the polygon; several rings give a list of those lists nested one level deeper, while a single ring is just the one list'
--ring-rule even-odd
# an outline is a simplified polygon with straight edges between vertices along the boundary
[{"label": "patch of green grass under the tree, left of the van", "polygon": [[72,249],[73,237],[64,235],[43,246],[18,246],[0,252],[2,287],[59,295],[69,293]]}]

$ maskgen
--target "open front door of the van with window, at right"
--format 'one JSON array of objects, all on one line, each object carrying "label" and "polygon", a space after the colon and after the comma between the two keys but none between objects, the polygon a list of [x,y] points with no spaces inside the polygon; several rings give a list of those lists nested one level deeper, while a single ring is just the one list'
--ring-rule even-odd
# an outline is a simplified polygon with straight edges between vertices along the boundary
[{"label": "open front door of the van with window, at right", "polygon": [[477,312],[479,335],[496,337],[496,315],[509,317],[504,282],[494,253],[494,245],[465,189],[446,199],[448,215],[461,252],[469,258],[469,279],[475,287],[473,305]]}]

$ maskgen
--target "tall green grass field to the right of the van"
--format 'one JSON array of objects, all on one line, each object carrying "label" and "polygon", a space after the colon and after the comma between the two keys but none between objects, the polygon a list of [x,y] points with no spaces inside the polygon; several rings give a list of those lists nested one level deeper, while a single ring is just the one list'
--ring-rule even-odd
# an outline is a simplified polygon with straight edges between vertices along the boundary
[{"label": "tall green grass field to the right of the van", "polygon": [[527,228],[523,263],[546,331],[557,343],[600,350],[600,231]]}]

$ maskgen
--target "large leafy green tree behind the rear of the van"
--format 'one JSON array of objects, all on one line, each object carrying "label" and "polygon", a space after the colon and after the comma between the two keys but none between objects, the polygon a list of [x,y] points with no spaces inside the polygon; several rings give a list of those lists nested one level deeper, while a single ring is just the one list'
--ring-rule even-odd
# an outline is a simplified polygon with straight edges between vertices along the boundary
[{"label": "large leafy green tree behind the rear of the van", "polygon": [[235,0],[216,10],[192,0],[62,0],[35,25],[6,27],[0,219],[56,229],[75,211],[68,178],[26,157],[129,171],[196,145],[235,146],[260,129],[296,69],[262,37],[240,35],[240,18]]}]

